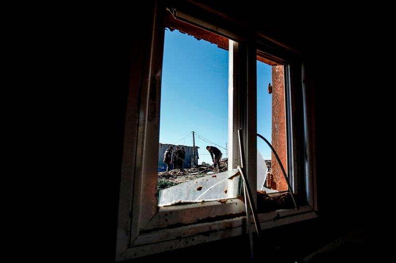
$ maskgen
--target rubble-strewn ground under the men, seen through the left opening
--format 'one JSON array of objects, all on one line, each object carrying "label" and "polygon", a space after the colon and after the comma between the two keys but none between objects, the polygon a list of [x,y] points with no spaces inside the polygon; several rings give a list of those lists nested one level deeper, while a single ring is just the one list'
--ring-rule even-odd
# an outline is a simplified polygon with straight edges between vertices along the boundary
[{"label": "rubble-strewn ground under the men, seen through the left opening", "polygon": [[217,174],[228,169],[228,159],[223,159],[220,161],[220,169],[217,167],[213,169],[212,166],[198,165],[194,168],[184,169],[180,171],[178,169],[169,171],[169,172],[159,172],[158,179],[169,181],[169,185],[175,186],[190,180],[194,180],[199,177],[204,177],[211,174]]}]

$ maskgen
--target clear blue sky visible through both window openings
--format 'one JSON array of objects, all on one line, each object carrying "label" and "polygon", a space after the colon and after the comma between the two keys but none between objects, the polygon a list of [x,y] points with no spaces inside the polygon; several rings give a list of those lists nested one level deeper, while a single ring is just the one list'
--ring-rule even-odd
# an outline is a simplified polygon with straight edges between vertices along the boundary
[{"label": "clear blue sky visible through both window openings", "polygon": [[[268,134],[271,134],[271,95],[266,92],[266,87],[268,82],[271,82],[271,67],[260,62],[257,64],[257,70],[257,96],[260,102],[260,120],[257,123],[260,129],[257,126],[257,130],[270,140]],[[266,110],[268,113],[264,113]],[[266,125],[268,127],[265,127]],[[226,148],[227,129],[228,51],[205,40],[198,41],[177,30],[166,30],[159,142],[174,144],[182,139],[176,145],[192,146],[193,136],[190,132],[195,131]],[[204,161],[212,164],[205,147],[216,145],[204,142],[197,135],[195,141],[196,146],[200,148],[198,163]],[[261,149],[260,144],[258,146],[262,155],[269,155],[268,147]],[[226,157],[227,151],[216,147],[222,151],[223,157]]]}]

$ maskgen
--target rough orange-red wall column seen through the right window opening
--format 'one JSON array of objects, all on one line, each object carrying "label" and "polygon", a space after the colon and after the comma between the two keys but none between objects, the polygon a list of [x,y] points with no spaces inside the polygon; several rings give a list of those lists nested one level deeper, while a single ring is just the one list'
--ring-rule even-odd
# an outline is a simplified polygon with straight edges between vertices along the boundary
[{"label": "rough orange-red wall column seen through the right window opening", "polygon": [[[285,116],[285,82],[283,66],[272,66],[272,146],[281,159],[283,167],[287,171],[286,159],[286,116]],[[275,157],[271,154],[272,177],[271,188],[279,191],[288,189],[281,167]],[[272,179],[272,180],[271,180]]]}]

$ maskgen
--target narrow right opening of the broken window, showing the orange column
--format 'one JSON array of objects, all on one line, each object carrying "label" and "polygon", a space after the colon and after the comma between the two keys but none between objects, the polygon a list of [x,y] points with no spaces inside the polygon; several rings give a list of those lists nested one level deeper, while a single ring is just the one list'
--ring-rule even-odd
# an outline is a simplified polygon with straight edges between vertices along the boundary
[{"label": "narrow right opening of the broken window, showing the orange column", "polygon": [[[257,134],[272,145],[275,153],[257,138],[257,211],[258,213],[293,208],[287,171],[285,66],[257,55]],[[289,180],[289,179],[288,179]]]}]

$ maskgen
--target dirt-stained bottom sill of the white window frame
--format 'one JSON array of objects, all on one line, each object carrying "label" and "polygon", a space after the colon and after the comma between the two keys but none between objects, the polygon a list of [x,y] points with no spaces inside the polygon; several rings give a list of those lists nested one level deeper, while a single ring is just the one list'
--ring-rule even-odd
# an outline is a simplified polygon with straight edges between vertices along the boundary
[{"label": "dirt-stained bottom sill of the white window frame", "polygon": [[[232,206],[245,209],[245,204],[239,199],[229,200],[230,208]],[[218,203],[218,202],[216,202]],[[191,206],[201,205],[203,209],[218,209],[218,205],[213,202],[161,208],[158,214],[165,217],[165,213],[189,213]],[[221,205],[225,206],[225,205]],[[217,208],[216,208],[217,207]],[[173,209],[171,209],[173,208]],[[245,211],[245,210],[244,210]],[[218,210],[217,210],[218,212]],[[180,214],[181,215],[181,214]],[[160,216],[160,217],[162,217]],[[197,219],[197,215],[195,216]],[[300,207],[296,209],[282,209],[269,213],[259,214],[261,229],[268,229],[280,225],[287,225],[303,220],[316,218],[317,215],[310,206]],[[117,261],[131,258],[148,256],[151,254],[161,253],[168,250],[179,249],[192,245],[198,245],[205,242],[215,241],[222,238],[228,238],[243,234],[243,220],[245,216],[238,216],[232,219],[218,220],[207,223],[196,223],[183,226],[169,226],[163,229],[144,230],[143,233],[131,244],[131,246],[123,253]],[[254,225],[251,225],[254,231]]]}]

